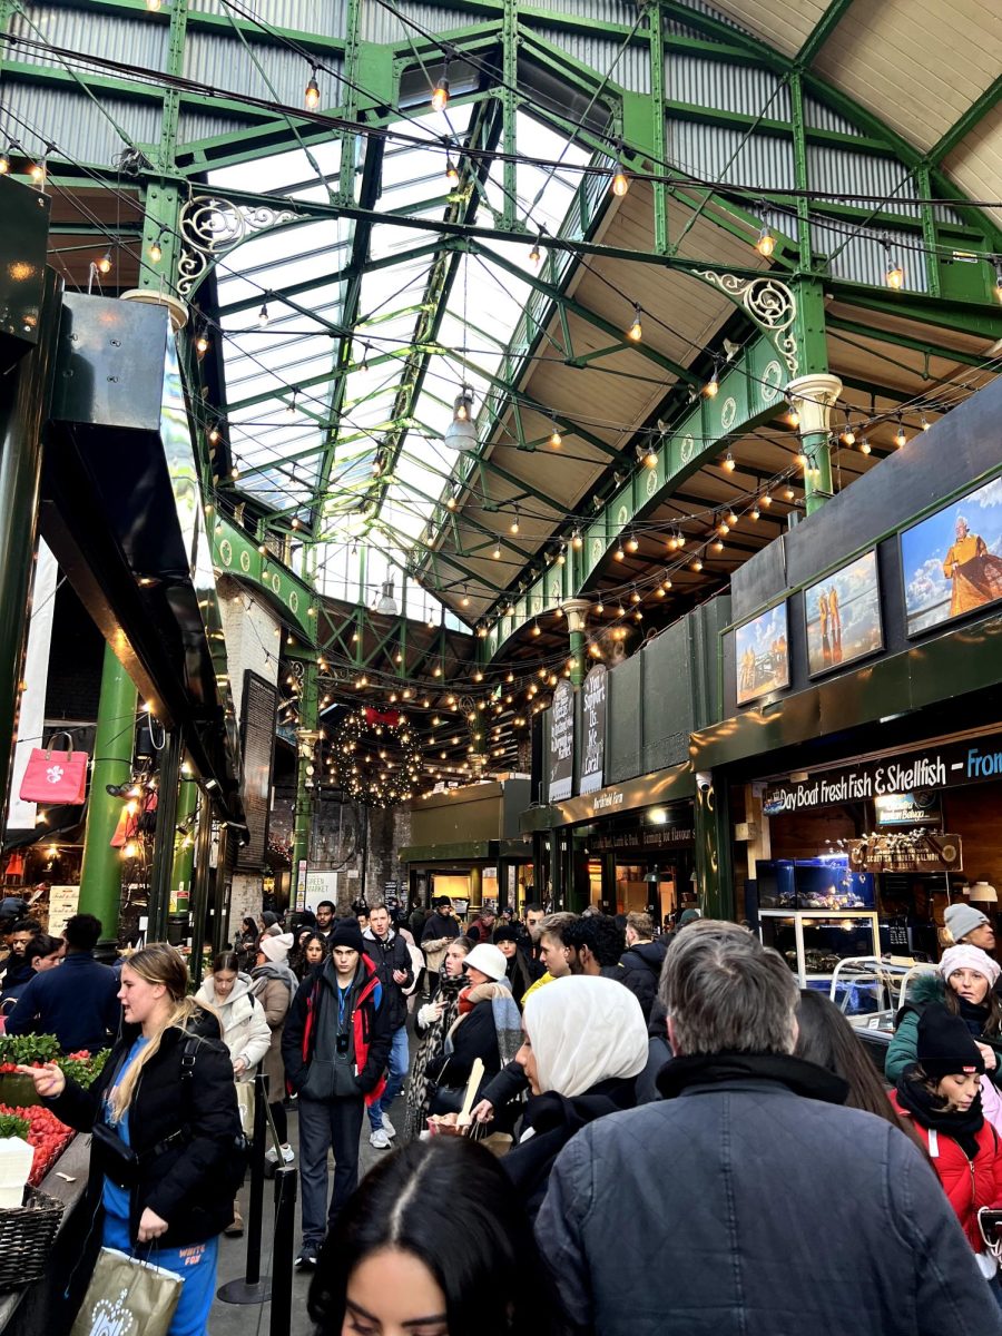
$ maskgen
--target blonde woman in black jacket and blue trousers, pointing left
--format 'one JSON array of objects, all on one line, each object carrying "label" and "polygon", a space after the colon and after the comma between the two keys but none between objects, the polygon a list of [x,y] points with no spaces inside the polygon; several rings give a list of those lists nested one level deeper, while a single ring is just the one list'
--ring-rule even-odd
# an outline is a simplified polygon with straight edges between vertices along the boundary
[{"label": "blonde woman in black jacket and blue trousers, pointing left", "polygon": [[94,1134],[88,1192],[104,1208],[104,1246],[184,1277],[170,1336],[206,1331],[242,1174],[230,1053],[187,985],[172,946],[143,947],[122,967],[122,1035],[90,1090],[52,1062],[20,1069],[57,1118]]}]

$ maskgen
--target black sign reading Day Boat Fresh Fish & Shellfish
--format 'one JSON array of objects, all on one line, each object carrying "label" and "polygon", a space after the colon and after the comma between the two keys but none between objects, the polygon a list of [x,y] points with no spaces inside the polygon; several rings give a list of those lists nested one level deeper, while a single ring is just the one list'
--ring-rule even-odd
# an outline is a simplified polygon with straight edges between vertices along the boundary
[{"label": "black sign reading Day Boat Fresh Fish & Shellfish", "polygon": [[860,803],[884,794],[914,794],[1002,778],[1002,735],[930,744],[900,756],[862,760],[806,779],[766,786],[766,816],[838,803]]}]

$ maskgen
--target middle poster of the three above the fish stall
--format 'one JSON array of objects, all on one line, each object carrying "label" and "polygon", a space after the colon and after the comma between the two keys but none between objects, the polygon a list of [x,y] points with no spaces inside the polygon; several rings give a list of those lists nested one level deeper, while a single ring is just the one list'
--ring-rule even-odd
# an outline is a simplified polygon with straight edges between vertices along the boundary
[{"label": "middle poster of the three above the fish stall", "polygon": [[883,648],[876,552],[804,591],[810,673],[830,672]]}]

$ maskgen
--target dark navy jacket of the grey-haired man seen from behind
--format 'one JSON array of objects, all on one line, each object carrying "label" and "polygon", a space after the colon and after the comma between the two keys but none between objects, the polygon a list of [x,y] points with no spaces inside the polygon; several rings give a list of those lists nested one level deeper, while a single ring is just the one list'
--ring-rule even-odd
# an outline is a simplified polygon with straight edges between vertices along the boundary
[{"label": "dark navy jacket of the grey-haired man seen from behind", "polygon": [[576,1327],[1002,1336],[935,1174],[890,1122],[835,1106],[838,1077],[720,1054],[676,1058],[660,1085],[660,1102],[582,1128],[550,1172],[536,1233]]}]

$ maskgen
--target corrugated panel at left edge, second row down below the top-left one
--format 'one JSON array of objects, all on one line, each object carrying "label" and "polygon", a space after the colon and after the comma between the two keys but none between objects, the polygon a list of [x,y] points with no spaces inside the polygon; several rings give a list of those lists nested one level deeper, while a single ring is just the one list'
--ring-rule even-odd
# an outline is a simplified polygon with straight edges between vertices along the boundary
[{"label": "corrugated panel at left edge, second row down below the top-left one", "polygon": [[[156,143],[160,136],[160,108],[156,103],[126,102],[123,98],[108,98],[107,94],[102,94],[100,102],[95,102],[76,90],[8,80],[4,111],[9,118],[8,124],[17,126],[17,139],[28,152],[43,152],[55,127],[57,158],[102,167],[110,167],[122,150],[128,147],[112,119],[140,147]],[[55,167],[52,176],[59,180]]]}]

